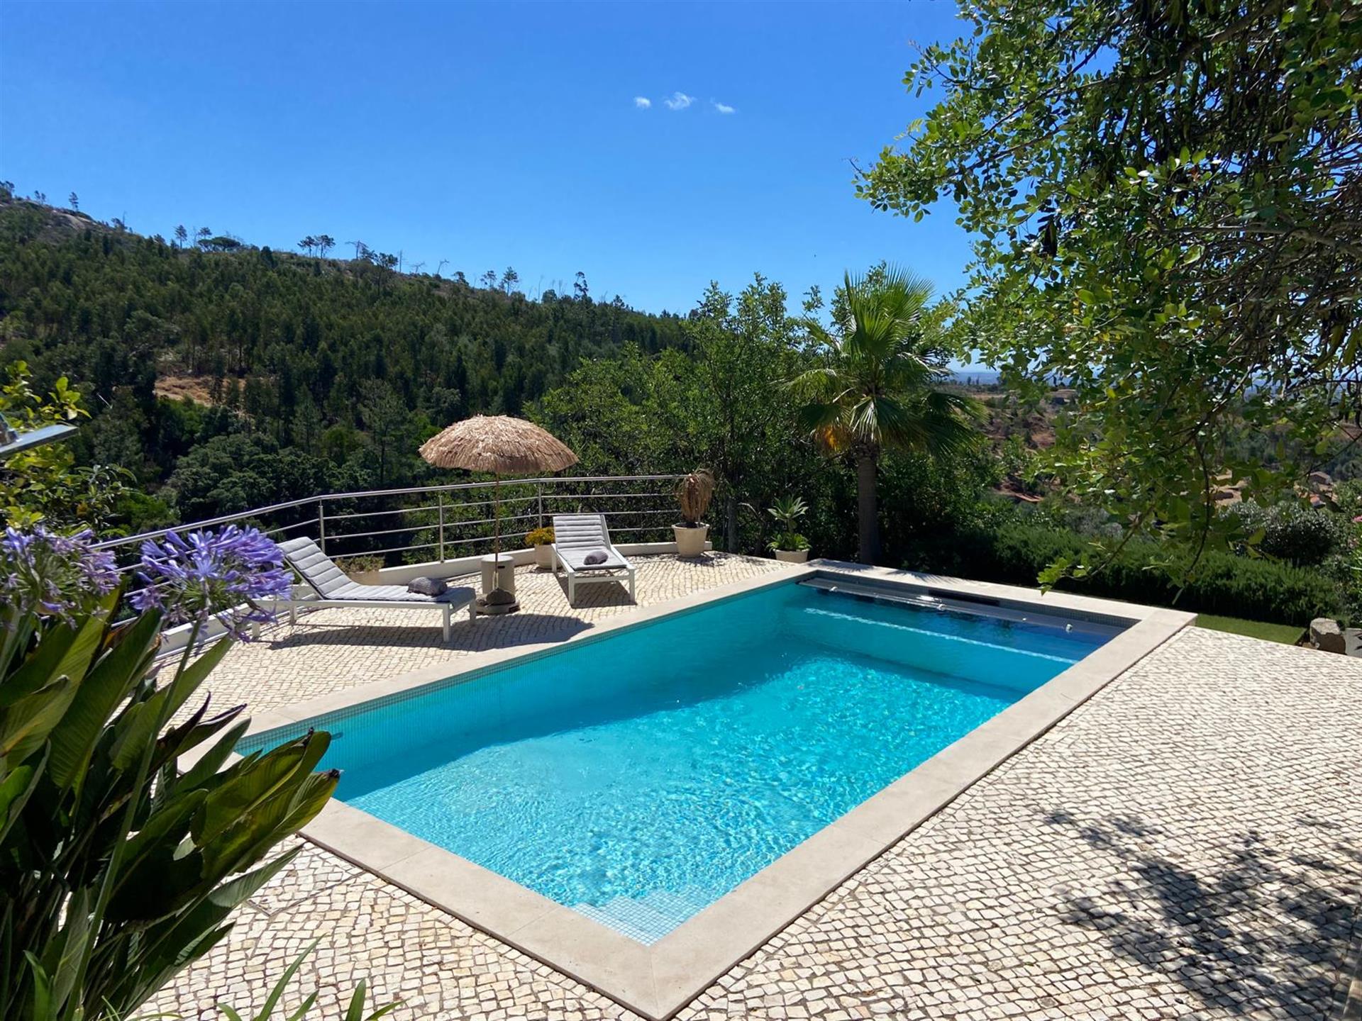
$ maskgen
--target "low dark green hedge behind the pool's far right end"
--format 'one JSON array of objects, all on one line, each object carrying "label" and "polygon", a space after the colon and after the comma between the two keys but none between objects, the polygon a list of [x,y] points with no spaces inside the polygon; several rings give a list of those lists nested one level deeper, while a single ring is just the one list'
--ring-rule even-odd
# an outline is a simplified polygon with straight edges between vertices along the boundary
[{"label": "low dark green hedge behind the pool's far right end", "polygon": [[[1035,585],[1036,574],[1060,557],[1091,555],[1088,539],[1075,532],[1026,524],[967,530],[914,543],[904,566],[979,581]],[[1286,564],[1230,553],[1205,553],[1196,570],[1182,579],[1178,564],[1151,568],[1167,551],[1155,543],[1132,542],[1115,562],[1083,579],[1065,579],[1057,588],[1193,613],[1242,617],[1250,621],[1305,626],[1314,617],[1337,617],[1342,594],[1331,579]],[[1179,591],[1181,589],[1181,591]]]}]

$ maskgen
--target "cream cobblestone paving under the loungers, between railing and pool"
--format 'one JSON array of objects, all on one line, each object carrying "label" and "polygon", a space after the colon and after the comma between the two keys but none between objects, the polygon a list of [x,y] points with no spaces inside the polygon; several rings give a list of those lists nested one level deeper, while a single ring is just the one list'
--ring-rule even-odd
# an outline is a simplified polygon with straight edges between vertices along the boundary
[{"label": "cream cobblestone paving under the loungers, between railing and pool", "polygon": [[[780,570],[774,560],[708,553],[631,557],[637,568],[639,606],[665,603],[707,588]],[[474,576],[452,585],[477,587]],[[449,641],[440,636],[432,610],[316,610],[262,633],[260,641],[237,645],[212,671],[208,687],[215,705],[247,702],[252,711],[278,709],[355,685],[419,670],[488,649],[560,641],[597,621],[635,609],[624,584],[577,587],[577,606],[568,606],[567,581],[533,566],[516,569],[520,610],[504,617],[455,614]]]}]

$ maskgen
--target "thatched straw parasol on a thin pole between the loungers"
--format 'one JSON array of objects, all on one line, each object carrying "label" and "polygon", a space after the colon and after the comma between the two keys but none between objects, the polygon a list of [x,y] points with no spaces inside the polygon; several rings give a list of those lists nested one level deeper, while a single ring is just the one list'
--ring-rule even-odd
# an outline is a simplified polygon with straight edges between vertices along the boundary
[{"label": "thatched straw parasol on a thin pole between the loungers", "polygon": [[492,546],[496,564],[501,562],[501,476],[563,471],[577,463],[577,455],[552,433],[508,415],[474,415],[455,422],[426,440],[421,456],[437,468],[490,471],[496,476]]}]

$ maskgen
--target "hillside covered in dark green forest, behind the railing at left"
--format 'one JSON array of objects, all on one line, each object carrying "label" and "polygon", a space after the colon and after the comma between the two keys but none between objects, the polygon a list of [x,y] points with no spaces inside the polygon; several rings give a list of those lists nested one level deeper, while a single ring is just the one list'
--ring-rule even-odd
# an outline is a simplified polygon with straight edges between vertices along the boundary
[{"label": "hillside covered in dark green forest, behind the railing at left", "polygon": [[684,343],[681,317],[598,302],[580,276],[530,299],[513,275],[479,287],[388,261],[176,245],[0,199],[0,361],[39,387],[68,376],[94,412],[79,455],[133,471],[147,515],[192,517],[419,481],[421,434],[520,412],[583,359]]}]

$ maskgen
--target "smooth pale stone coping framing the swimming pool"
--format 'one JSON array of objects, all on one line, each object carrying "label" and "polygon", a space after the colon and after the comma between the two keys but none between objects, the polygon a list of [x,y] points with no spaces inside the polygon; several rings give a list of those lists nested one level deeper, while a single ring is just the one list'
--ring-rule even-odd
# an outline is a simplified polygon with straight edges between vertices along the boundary
[{"label": "smooth pale stone coping framing the swimming pool", "polygon": [[[727,894],[651,945],[644,945],[512,879],[430,844],[360,809],[332,800],[302,836],[501,942],[598,990],[651,1021],[666,1021],[844,879],[883,855],[929,817],[1030,745],[1196,615],[1068,592],[868,568],[839,561],[774,570],[612,618],[565,641],[463,656],[396,678],[360,685],[255,716],[248,735],[297,734],[409,697],[415,689],[464,683],[575,643],[646,626],[678,613],[791,584],[824,579],[853,588],[996,602],[1128,623],[1125,632],[971,730],[840,818],[795,845]],[[475,626],[475,625],[474,625]]]}]

